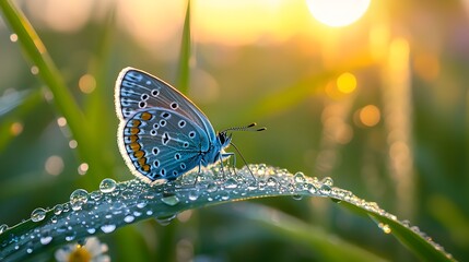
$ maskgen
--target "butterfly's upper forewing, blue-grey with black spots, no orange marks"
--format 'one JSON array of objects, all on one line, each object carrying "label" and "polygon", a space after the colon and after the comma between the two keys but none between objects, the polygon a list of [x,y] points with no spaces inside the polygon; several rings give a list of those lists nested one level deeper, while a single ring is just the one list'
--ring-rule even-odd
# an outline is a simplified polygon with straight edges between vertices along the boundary
[{"label": "butterfly's upper forewing, blue-grey with black spots, no orange marks", "polygon": [[207,116],[176,88],[141,70],[124,69],[116,82],[116,110],[120,120],[129,119],[145,108],[166,108],[176,111],[201,127],[209,141],[215,132]]}]

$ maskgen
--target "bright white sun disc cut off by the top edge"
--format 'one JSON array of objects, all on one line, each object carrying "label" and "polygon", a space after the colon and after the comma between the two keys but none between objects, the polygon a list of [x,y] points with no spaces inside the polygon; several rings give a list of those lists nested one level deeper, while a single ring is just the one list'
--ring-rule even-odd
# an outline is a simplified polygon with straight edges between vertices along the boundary
[{"label": "bright white sun disc cut off by the top edge", "polygon": [[370,7],[371,0],[307,0],[313,16],[320,23],[341,27],[357,21]]}]

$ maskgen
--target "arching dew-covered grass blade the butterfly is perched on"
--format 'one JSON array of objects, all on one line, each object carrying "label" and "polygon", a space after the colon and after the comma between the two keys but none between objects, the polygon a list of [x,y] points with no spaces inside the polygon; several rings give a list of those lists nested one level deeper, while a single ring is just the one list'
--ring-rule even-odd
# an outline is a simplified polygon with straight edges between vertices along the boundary
[{"label": "arching dew-covered grass blade the butterfly is perched on", "polygon": [[[256,181],[251,175],[256,177]],[[197,184],[194,183],[196,177]],[[333,187],[332,179],[319,181],[301,172],[293,175],[285,169],[263,164],[250,165],[249,169],[245,167],[233,174],[226,174],[226,170],[222,174],[220,167],[203,169],[200,174],[197,170],[190,171],[175,181],[160,186],[130,180],[103,191],[87,193],[77,190],[70,195],[69,203],[58,204],[48,211],[40,210],[40,215],[36,212],[34,221],[28,219],[11,228],[2,226],[0,259],[24,261],[71,240],[110,234],[119,227],[146,218],[156,218],[161,224],[167,224],[176,214],[186,210],[256,198],[290,195],[329,198],[378,221],[386,234],[401,240],[419,258],[425,261],[454,261],[442,246],[425,237],[417,227],[398,221],[374,202]],[[281,221],[278,223],[282,226]],[[285,225],[289,225],[288,222]],[[360,254],[353,254],[356,255]]]}]

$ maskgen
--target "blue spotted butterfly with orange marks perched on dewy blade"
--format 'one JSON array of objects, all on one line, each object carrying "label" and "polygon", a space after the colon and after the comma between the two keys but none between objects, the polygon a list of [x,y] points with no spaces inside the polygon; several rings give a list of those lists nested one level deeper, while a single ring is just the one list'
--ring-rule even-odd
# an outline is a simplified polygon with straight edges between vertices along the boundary
[{"label": "blue spotted butterfly with orange marks perched on dewy blade", "polygon": [[[230,130],[215,133],[207,116],[176,88],[133,68],[124,69],[115,90],[118,145],[132,174],[145,182],[174,180],[195,167],[234,153]],[[260,130],[260,129],[259,129]],[[262,129],[263,130],[263,129]],[[223,166],[222,166],[223,167]]]}]

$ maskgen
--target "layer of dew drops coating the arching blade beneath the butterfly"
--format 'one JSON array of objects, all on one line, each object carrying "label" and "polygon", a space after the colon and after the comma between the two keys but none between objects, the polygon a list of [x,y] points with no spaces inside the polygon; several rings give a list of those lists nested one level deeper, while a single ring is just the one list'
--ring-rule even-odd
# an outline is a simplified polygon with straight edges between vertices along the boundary
[{"label": "layer of dew drops coating the arching blade beneath the butterfly", "polygon": [[[382,210],[376,203],[364,201],[348,190],[333,187],[333,181],[329,177],[318,180],[316,177],[306,177],[303,172],[292,175],[285,169],[263,164],[244,167],[223,178],[220,178],[221,172],[216,169],[215,167],[204,172],[211,175],[188,174],[185,179],[177,179],[163,186],[150,186],[137,179],[117,183],[106,178],[101,182],[98,191],[89,193],[84,189],[77,189],[70,194],[70,202],[57,204],[50,210],[51,212],[42,207],[35,209],[31,214],[31,221],[47,222],[47,224],[40,230],[36,228],[20,238],[36,239],[36,241],[38,239],[40,245],[48,245],[54,237],[65,235],[66,241],[73,241],[93,235],[99,229],[106,234],[112,233],[119,225],[145,217],[155,217],[160,224],[167,225],[176,214],[166,213],[162,216],[154,214],[157,213],[155,206],[161,206],[155,203],[175,206],[180,202],[190,204],[197,200],[203,204],[261,195],[293,195],[294,200],[301,200],[303,195],[326,196],[335,202],[350,202],[397,221],[395,215]],[[198,182],[194,183],[194,179],[198,179]],[[62,217],[65,221],[60,222]],[[411,226],[408,222],[401,222],[401,224],[425,238],[435,249],[444,252],[443,247],[432,241],[418,227]],[[391,233],[389,225],[378,223],[378,226],[384,233]],[[7,225],[0,225],[0,235],[8,229]],[[26,242],[32,246],[32,241],[20,241],[15,236],[9,239],[0,243],[0,247],[11,242]],[[20,245],[14,246],[14,249],[20,249]],[[33,252],[33,247],[26,248],[26,252]]]}]

